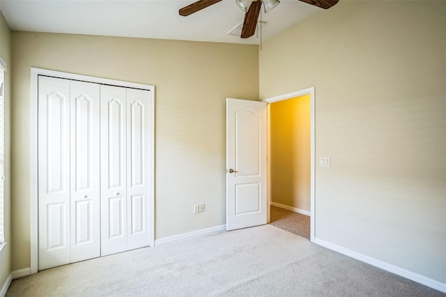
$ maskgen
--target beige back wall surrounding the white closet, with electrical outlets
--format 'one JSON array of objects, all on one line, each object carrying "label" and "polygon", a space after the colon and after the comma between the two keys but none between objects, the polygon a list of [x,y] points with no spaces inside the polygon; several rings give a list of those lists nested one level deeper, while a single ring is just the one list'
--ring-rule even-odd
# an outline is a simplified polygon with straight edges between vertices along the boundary
[{"label": "beige back wall surrounding the white closet, with electrical outlets", "polygon": [[256,45],[13,31],[13,51],[13,270],[30,266],[31,66],[153,84],[155,238],[225,224],[226,97],[258,100]]}]

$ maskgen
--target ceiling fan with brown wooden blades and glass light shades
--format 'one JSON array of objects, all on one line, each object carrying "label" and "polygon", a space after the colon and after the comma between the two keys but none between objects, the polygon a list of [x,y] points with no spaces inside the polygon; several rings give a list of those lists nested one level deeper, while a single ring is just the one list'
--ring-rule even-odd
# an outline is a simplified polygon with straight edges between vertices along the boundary
[{"label": "ceiling fan with brown wooden blades and glass light shades", "polygon": [[[180,9],[180,15],[186,17],[187,15],[192,15],[192,13],[197,13],[197,11],[202,10],[208,6],[211,6],[222,0],[199,0],[188,6]],[[339,0],[299,0],[311,5],[328,9],[334,6]],[[263,8],[265,13],[275,8],[277,4],[280,3],[279,0],[236,0],[237,5],[241,10],[245,11],[245,21],[243,22],[243,29],[241,38],[249,38],[256,32],[257,20],[259,19],[260,9],[263,3]]]}]

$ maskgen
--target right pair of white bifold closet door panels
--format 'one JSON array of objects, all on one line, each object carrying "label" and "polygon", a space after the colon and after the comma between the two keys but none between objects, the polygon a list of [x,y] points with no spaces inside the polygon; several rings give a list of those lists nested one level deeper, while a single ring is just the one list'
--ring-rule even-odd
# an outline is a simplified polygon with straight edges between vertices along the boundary
[{"label": "right pair of white bifold closet door panels", "polygon": [[101,86],[101,254],[150,244],[149,91]]}]

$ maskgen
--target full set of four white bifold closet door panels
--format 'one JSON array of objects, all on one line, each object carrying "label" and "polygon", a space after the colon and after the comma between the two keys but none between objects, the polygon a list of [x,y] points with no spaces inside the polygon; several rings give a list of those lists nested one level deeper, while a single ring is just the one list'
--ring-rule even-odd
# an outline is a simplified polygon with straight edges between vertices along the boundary
[{"label": "full set of four white bifold closet door panels", "polygon": [[150,245],[151,91],[38,76],[37,106],[38,270]]}]

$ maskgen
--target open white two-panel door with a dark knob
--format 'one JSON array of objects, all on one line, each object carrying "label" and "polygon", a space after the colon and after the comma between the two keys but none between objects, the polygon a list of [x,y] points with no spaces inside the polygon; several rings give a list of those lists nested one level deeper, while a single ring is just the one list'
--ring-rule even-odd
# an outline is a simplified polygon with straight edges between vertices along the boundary
[{"label": "open white two-panel door with a dark knob", "polygon": [[266,102],[226,99],[226,230],[267,223]]}]

